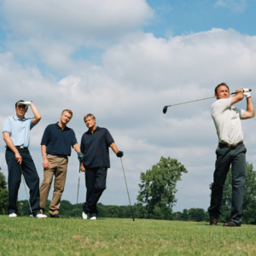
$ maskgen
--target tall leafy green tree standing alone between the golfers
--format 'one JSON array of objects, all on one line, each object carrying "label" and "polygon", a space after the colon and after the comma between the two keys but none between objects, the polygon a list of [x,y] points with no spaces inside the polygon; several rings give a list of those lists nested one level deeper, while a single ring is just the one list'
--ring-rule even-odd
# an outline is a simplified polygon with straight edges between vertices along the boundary
[{"label": "tall leafy green tree standing alone between the golfers", "polygon": [[176,183],[186,168],[176,159],[161,157],[160,162],[146,173],[141,172],[137,201],[141,204],[140,218],[172,219],[172,207],[177,200]]}]

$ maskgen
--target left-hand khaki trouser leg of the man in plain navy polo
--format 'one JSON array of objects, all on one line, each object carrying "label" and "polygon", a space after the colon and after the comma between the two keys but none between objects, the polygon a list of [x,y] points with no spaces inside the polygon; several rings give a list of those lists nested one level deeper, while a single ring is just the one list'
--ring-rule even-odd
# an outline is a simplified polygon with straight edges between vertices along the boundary
[{"label": "left-hand khaki trouser leg of the man in plain navy polo", "polygon": [[47,160],[49,161],[49,169],[44,169],[44,180],[40,187],[39,207],[41,213],[44,213],[44,207],[49,196],[49,189],[51,187],[51,183],[53,177],[55,176],[55,171],[58,165],[57,161],[55,160],[55,155],[48,154]]}]

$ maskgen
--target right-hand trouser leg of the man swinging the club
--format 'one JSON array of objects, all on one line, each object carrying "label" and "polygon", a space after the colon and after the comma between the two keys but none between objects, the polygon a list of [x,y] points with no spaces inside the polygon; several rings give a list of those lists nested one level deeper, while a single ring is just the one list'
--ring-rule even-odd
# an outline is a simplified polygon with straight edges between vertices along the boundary
[{"label": "right-hand trouser leg of the man swinging the club", "polygon": [[241,207],[244,194],[244,183],[246,179],[246,152],[243,144],[233,149],[235,154],[232,161],[232,205],[231,221],[241,226]]}]

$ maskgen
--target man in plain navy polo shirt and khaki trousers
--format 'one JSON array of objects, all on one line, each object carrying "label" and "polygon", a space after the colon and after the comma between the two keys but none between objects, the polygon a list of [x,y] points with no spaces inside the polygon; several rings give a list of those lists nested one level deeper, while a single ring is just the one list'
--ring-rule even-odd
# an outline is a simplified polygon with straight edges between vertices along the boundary
[{"label": "man in plain navy polo shirt and khaki trousers", "polygon": [[48,125],[42,137],[41,150],[44,180],[40,188],[40,210],[44,213],[49,189],[55,176],[53,198],[49,205],[50,218],[62,218],[59,214],[59,209],[67,177],[67,156],[71,155],[71,147],[78,153],[79,160],[82,161],[83,159],[75,133],[71,128],[67,127],[72,117],[73,112],[69,109],[64,109],[61,113],[60,121],[53,125]]}]

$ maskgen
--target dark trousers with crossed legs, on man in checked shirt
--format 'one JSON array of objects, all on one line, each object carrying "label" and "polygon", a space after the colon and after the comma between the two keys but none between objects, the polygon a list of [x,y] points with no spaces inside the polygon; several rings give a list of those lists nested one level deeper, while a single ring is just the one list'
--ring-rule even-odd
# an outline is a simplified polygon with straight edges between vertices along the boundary
[{"label": "dark trousers with crossed legs, on man in checked shirt", "polygon": [[86,201],[83,205],[85,213],[90,213],[90,217],[98,216],[96,208],[97,202],[106,189],[107,167],[87,168],[85,171]]}]

